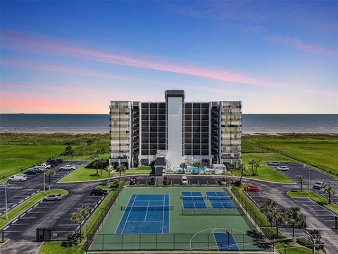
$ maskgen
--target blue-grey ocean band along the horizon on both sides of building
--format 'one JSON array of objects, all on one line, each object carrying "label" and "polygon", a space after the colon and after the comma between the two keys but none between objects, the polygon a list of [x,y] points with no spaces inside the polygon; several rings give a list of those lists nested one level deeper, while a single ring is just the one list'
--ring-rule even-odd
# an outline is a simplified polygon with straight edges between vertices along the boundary
[{"label": "blue-grey ocean band along the horizon on both sides of building", "polygon": [[[0,132],[108,131],[108,114],[0,114]],[[338,133],[338,114],[243,114],[242,132]]]}]

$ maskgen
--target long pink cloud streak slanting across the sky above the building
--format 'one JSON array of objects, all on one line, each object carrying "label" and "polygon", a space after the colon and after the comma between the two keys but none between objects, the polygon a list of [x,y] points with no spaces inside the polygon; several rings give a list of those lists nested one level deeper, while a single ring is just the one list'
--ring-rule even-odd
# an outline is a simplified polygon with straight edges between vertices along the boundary
[{"label": "long pink cloud streak slanting across the sky above the building", "polygon": [[170,63],[168,61],[158,61],[153,59],[137,59],[122,54],[111,54],[94,49],[84,49],[73,47],[68,44],[46,40],[42,37],[27,35],[19,32],[5,31],[2,33],[4,42],[2,47],[15,49],[25,52],[44,52],[48,54],[58,54],[62,56],[71,56],[78,59],[87,59],[90,61],[99,61],[103,63],[112,63],[120,66],[132,66],[136,68],[148,68],[156,71],[168,71],[171,73],[180,73],[185,75],[194,75],[202,78],[211,78],[231,83],[244,83],[250,85],[261,85],[275,87],[273,84],[261,78],[253,77],[246,73],[237,73],[233,71],[214,70],[192,64]]}]

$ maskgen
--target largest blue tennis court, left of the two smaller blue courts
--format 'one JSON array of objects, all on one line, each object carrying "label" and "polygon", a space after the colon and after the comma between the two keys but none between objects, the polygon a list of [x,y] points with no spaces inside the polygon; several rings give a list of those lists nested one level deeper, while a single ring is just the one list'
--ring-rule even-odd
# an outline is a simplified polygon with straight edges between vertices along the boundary
[{"label": "largest blue tennis court, left of the two smaller blue courts", "polygon": [[133,194],[115,234],[169,234],[169,194]]}]

